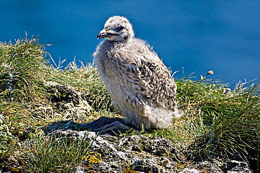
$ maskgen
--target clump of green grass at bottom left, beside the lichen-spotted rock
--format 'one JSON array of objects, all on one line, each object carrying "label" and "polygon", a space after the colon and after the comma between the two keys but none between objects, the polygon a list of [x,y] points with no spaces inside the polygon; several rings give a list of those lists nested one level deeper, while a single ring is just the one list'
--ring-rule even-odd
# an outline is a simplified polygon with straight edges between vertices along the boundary
[{"label": "clump of green grass at bottom left, beside the lichen-spotted rock", "polygon": [[71,173],[90,151],[90,144],[91,140],[46,137],[38,131],[22,145],[21,168],[28,173]]}]

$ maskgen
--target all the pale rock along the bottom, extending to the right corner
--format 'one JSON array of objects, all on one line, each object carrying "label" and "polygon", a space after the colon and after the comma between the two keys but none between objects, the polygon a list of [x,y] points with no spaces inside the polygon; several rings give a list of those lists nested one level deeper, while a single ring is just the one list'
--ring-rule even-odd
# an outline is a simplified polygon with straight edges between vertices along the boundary
[{"label": "all the pale rock along the bottom, extending to the right corner", "polygon": [[53,135],[93,140],[91,152],[83,157],[76,173],[251,173],[245,162],[238,161],[203,161],[180,170],[177,165],[183,156],[167,138],[97,135],[91,131],[71,130],[70,123],[64,126],[68,130],[62,128]]}]

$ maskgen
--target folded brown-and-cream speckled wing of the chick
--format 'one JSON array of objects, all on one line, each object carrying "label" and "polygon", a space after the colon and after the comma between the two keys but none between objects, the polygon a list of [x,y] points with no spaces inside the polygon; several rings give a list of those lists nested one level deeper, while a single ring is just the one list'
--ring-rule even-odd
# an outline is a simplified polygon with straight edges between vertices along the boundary
[{"label": "folded brown-and-cream speckled wing of the chick", "polygon": [[[122,55],[124,56],[124,55]],[[131,60],[122,60],[131,57]],[[148,48],[120,58],[117,70],[126,104],[140,115],[150,111],[147,104],[174,109],[176,85],[159,57]],[[145,104],[144,104],[145,103]]]}]

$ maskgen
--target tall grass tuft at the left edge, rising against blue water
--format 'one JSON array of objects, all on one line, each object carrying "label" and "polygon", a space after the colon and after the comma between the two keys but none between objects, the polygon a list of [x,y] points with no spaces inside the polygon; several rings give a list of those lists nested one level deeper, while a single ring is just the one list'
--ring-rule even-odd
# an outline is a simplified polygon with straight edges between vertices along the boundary
[{"label": "tall grass tuft at the left edge, rising against blue water", "polygon": [[49,78],[45,47],[37,38],[0,43],[0,97],[7,102],[39,101]]}]

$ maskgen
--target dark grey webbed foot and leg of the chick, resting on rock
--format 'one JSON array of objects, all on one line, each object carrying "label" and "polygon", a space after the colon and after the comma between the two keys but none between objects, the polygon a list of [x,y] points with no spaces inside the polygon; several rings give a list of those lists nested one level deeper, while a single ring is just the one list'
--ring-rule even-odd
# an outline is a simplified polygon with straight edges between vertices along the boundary
[{"label": "dark grey webbed foot and leg of the chick, resting on rock", "polygon": [[124,125],[123,122],[124,120],[121,118],[101,117],[91,123],[80,125],[79,129],[90,129],[95,132],[131,129]]}]

